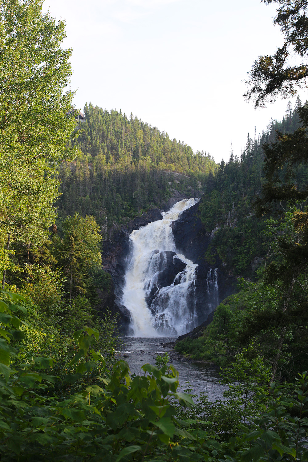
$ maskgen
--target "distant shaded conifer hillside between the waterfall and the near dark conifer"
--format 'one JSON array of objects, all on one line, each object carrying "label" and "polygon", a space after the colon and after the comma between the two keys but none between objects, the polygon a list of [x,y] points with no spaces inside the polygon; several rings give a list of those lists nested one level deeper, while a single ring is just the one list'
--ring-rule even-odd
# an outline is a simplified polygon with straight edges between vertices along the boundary
[{"label": "distant shaded conifer hillside between the waterfall and the near dark conifer", "polygon": [[[258,138],[248,134],[241,156],[231,153],[229,162],[221,161],[216,175],[209,175],[199,206],[205,230],[215,230],[205,256],[209,263],[217,255],[232,273],[256,277],[254,271],[267,253],[264,221],[268,216],[257,217],[253,207],[266,182],[263,146],[273,142],[278,132],[293,133],[300,127],[300,107],[299,98],[293,110],[289,102],[281,122],[271,121]],[[298,165],[295,181],[299,188],[307,184],[307,165]]]}]

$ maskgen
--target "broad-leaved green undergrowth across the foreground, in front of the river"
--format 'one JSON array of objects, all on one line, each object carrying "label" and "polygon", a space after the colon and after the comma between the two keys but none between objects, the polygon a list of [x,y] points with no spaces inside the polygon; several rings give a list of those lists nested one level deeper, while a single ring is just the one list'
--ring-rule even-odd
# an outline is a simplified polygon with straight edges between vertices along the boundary
[{"label": "broad-leaved green undergrowth across the foreground, in front of the river", "polygon": [[[24,298],[10,292],[2,298],[8,301],[1,302],[2,313],[25,312],[15,305]],[[9,332],[22,321],[10,315],[0,322],[1,331]],[[56,359],[20,355],[8,343],[13,332],[4,333],[0,355],[3,461],[307,460],[306,373],[297,385],[272,384],[268,393],[269,371],[254,348],[225,370],[227,401],[201,396],[194,406],[177,391],[172,365],[145,364],[144,376],[131,377],[127,363],[119,361],[109,372],[94,349],[95,328],[75,331],[74,349],[63,345]]]}]

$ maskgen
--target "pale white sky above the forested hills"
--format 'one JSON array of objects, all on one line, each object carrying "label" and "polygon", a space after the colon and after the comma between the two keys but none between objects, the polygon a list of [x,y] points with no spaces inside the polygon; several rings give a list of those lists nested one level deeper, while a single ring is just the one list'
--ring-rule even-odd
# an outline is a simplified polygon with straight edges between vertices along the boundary
[{"label": "pale white sky above the forested hills", "polygon": [[[45,0],[66,21],[73,103],[116,109],[216,162],[241,155],[247,134],[281,120],[288,100],[243,98],[254,59],[282,43],[275,5],[260,0]],[[308,99],[301,91],[302,102]],[[292,107],[295,98],[291,99]]]}]

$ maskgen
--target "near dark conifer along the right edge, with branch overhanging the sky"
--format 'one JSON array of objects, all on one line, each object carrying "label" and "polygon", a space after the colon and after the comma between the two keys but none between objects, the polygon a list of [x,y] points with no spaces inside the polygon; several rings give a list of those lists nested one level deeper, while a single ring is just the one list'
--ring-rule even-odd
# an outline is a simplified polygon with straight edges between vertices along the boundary
[{"label": "near dark conifer along the right edge, with branch overhanging the sky", "polygon": [[[274,20],[284,34],[284,44],[273,56],[261,56],[250,71],[246,97],[255,106],[265,105],[278,95],[296,94],[296,87],[307,87],[308,63],[290,66],[290,53],[308,58],[308,2],[306,0],[263,0],[278,3]],[[275,329],[277,336],[272,380],[278,370],[284,343],[296,326],[307,330],[308,283],[308,199],[307,182],[299,184],[297,171],[308,161],[308,105],[296,102],[299,127],[291,132],[290,108],[276,140],[264,144],[265,182],[255,202],[259,216],[278,213],[281,218],[268,222],[267,237],[272,261],[266,267],[265,281],[278,290]],[[266,314],[268,316],[269,313]],[[249,324],[249,323],[248,323]],[[293,327],[293,329],[291,328]],[[262,328],[260,327],[260,330]],[[264,330],[264,329],[263,329]],[[307,338],[307,332],[306,332]]]}]

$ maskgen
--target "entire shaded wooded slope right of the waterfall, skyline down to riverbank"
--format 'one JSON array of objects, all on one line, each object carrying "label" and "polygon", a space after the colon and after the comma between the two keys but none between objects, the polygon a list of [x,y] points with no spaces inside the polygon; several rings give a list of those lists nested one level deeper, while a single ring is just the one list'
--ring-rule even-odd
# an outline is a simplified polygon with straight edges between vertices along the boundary
[{"label": "entire shaded wooded slope right of the waterfall, skyline down to riverbank", "polygon": [[293,111],[288,103],[281,122],[248,135],[242,157],[209,178],[199,205],[212,233],[205,258],[245,279],[178,352],[225,366],[250,342],[273,374],[307,369],[307,110],[299,98]]}]

